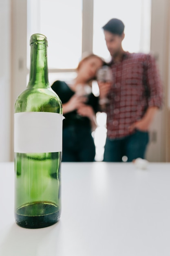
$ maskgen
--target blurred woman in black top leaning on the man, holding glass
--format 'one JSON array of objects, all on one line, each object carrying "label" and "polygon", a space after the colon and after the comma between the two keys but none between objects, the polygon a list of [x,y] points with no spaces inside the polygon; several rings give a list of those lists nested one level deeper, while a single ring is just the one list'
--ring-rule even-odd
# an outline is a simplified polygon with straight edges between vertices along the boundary
[{"label": "blurred woman in black top leaning on the man, holding glass", "polygon": [[51,88],[62,101],[63,162],[93,162],[95,144],[91,135],[98,111],[98,97],[91,91],[90,82],[104,65],[102,58],[91,54],[80,61],[77,76],[71,82],[55,81]]}]

